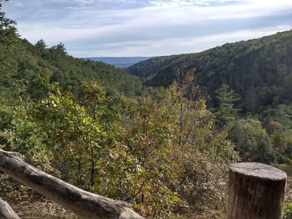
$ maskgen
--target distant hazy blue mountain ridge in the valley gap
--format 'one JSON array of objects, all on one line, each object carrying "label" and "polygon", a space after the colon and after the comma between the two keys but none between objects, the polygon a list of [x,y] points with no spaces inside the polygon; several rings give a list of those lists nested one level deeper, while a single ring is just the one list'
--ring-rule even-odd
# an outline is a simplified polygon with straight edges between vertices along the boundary
[{"label": "distant hazy blue mountain ridge in the valley gap", "polygon": [[131,65],[134,65],[137,62],[144,61],[147,59],[150,59],[152,57],[140,57],[140,56],[135,56],[135,57],[88,57],[88,58],[83,58],[83,59],[90,59],[93,61],[102,61],[110,65],[114,65],[115,67],[128,67]]}]

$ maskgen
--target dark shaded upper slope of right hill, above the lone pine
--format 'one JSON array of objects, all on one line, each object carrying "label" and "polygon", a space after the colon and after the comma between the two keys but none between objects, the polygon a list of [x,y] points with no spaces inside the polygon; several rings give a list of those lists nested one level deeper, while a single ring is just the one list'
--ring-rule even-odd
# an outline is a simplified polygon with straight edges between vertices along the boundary
[{"label": "dark shaded upper slope of right hill, above the lone pine", "polygon": [[155,75],[147,86],[168,86],[175,78],[173,68],[196,68],[197,81],[210,93],[214,106],[214,92],[222,84],[241,95],[238,104],[244,104],[246,111],[292,101],[292,31],[181,55],[171,63],[157,57],[158,73],[150,60],[133,65],[129,72],[138,77]]}]

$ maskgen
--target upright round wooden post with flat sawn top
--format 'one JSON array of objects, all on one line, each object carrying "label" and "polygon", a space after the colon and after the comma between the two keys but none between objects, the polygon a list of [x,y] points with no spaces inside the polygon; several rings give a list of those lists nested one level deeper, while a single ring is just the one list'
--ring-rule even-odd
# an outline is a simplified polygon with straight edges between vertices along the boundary
[{"label": "upright round wooden post with flat sawn top", "polygon": [[228,219],[283,219],[285,172],[260,163],[229,167]]}]

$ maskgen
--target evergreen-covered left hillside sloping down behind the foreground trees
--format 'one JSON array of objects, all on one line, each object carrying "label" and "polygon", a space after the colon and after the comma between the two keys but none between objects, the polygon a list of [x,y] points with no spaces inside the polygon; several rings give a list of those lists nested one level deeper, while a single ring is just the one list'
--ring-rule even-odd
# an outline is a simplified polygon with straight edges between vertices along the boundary
[{"label": "evergreen-covered left hillside sloping down behind the foreground trees", "polygon": [[[47,48],[43,40],[35,45],[26,39],[18,39],[10,50],[0,45],[0,92],[13,93],[15,81],[22,80],[33,98],[44,96],[41,83],[59,82],[77,95],[84,81],[100,80],[110,95],[121,92],[127,97],[141,96],[141,81],[125,70],[103,62],[73,58],[60,43]],[[5,72],[5,74],[4,74]]]}]

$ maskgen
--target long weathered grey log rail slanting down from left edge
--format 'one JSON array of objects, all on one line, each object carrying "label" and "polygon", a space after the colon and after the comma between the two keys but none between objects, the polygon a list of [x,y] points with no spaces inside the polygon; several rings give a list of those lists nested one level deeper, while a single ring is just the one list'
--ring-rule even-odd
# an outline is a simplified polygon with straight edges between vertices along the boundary
[{"label": "long weathered grey log rail slanting down from left edge", "polygon": [[25,163],[19,154],[0,150],[0,171],[84,219],[143,218],[131,204],[81,190]]}]

